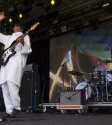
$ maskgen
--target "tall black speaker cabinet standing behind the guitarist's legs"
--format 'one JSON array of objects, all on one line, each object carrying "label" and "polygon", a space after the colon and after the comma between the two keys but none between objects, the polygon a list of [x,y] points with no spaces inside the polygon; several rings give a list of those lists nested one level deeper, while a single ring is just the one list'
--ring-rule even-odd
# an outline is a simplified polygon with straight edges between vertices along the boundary
[{"label": "tall black speaker cabinet standing behind the guitarist's legs", "polygon": [[20,88],[21,108],[33,109],[40,103],[40,75],[38,72],[25,71]]}]

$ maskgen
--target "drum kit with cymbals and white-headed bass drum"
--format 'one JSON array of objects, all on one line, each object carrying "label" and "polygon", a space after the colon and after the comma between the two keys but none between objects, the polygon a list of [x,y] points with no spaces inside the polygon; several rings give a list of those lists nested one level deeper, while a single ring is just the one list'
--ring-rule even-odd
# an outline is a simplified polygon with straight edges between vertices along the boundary
[{"label": "drum kit with cymbals and white-headed bass drum", "polygon": [[[103,63],[112,63],[112,60],[102,60]],[[86,100],[92,102],[111,101],[112,100],[112,71],[93,70],[90,73],[68,71],[69,74],[74,75],[77,79],[79,76],[88,75],[89,79],[84,82],[79,82],[76,79],[76,91],[85,90]]]}]

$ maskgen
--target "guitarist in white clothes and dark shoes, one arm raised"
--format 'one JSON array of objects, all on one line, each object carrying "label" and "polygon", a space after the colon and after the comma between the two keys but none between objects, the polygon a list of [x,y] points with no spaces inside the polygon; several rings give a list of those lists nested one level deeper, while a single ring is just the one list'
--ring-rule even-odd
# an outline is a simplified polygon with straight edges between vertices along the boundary
[{"label": "guitarist in white clothes and dark shoes, one arm raised", "polygon": [[[4,12],[0,12],[0,21],[4,18]],[[23,35],[22,27],[16,24],[13,27],[13,31],[12,35],[0,33],[0,42],[4,44],[4,49],[8,48],[13,41],[19,41],[14,49],[16,54],[9,59],[5,66],[1,66],[0,69],[0,86],[6,108],[4,117],[7,118],[16,117],[16,114],[21,110],[19,88],[21,86],[23,68],[26,65],[28,55],[32,52],[29,36],[21,37]]]}]

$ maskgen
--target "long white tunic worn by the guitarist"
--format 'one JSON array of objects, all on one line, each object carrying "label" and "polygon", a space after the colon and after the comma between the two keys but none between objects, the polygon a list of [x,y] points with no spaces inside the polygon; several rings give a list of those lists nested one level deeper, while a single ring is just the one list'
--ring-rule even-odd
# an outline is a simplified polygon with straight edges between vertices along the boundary
[{"label": "long white tunic worn by the guitarist", "polygon": [[[0,42],[5,45],[4,49],[8,48],[22,34],[22,32],[13,33],[12,35],[3,35],[0,33]],[[15,51],[16,54],[9,59],[8,63],[5,66],[1,66],[0,84],[9,80],[20,87],[23,68],[26,65],[28,55],[32,52],[28,35],[24,37],[24,46],[18,43]]]}]

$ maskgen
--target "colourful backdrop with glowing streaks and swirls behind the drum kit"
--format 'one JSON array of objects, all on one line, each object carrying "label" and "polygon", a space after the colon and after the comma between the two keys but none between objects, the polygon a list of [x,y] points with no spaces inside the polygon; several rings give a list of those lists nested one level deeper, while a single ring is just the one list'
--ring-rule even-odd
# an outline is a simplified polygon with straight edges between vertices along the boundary
[{"label": "colourful backdrop with glowing streaks and swirls behind the drum kit", "polygon": [[[96,65],[95,60],[111,59],[112,25],[106,22],[94,31],[84,29],[82,34],[73,32],[51,38],[50,40],[50,89],[49,102],[59,99],[60,91],[77,84],[76,77],[69,71],[90,73]],[[72,58],[72,59],[71,59]],[[64,65],[63,65],[64,64]],[[107,71],[112,64],[103,63]],[[78,77],[80,82],[87,81],[88,75]]]}]

